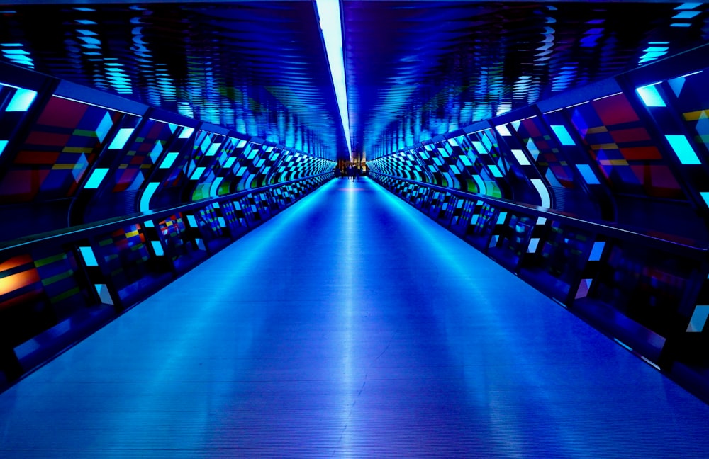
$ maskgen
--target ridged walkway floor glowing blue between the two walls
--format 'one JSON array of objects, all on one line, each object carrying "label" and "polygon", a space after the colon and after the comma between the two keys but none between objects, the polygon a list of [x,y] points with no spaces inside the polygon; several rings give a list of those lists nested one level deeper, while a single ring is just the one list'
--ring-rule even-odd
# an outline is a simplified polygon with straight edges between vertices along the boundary
[{"label": "ridged walkway floor glowing blue between the two walls", "polygon": [[10,458],[706,458],[709,407],[371,181],[0,395]]}]

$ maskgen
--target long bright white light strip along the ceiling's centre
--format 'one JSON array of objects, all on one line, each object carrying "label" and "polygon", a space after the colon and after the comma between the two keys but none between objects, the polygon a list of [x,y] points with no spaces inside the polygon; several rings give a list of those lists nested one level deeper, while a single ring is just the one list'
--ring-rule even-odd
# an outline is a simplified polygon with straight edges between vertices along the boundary
[{"label": "long bright white light strip along the ceiling's centre", "polygon": [[347,149],[352,157],[350,145],[350,113],[347,110],[347,81],[345,81],[345,59],[342,53],[342,18],[340,17],[340,0],[316,0],[320,30],[323,30],[325,50],[328,52],[330,74],[333,76],[337,106],[340,108],[342,127],[345,129]]}]

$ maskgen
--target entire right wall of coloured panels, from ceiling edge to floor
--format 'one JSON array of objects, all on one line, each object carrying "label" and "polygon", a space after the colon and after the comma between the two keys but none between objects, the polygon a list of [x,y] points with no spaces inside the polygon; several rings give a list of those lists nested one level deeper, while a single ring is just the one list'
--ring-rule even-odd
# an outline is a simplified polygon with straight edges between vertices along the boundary
[{"label": "entire right wall of coloured panels, from ceiling edge to floor", "polygon": [[709,400],[709,47],[367,162]]}]

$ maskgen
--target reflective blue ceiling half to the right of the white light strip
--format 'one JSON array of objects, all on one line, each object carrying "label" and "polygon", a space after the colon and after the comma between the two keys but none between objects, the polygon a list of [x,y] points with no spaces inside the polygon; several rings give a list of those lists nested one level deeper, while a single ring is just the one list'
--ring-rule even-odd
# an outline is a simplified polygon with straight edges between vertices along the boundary
[{"label": "reflective blue ceiling half to the right of the white light strip", "polygon": [[696,47],[707,5],[345,1],[353,149],[368,159]]}]

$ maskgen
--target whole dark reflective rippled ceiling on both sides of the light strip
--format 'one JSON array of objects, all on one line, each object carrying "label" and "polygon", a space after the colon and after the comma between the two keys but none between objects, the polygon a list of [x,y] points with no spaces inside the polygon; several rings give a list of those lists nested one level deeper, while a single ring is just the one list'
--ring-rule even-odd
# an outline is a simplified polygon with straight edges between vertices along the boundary
[{"label": "whole dark reflective rippled ceiling on both sides of the light strip", "polygon": [[[311,0],[4,4],[2,60],[320,157],[347,157]],[[341,5],[352,152],[367,159],[709,39],[704,3]]]}]

